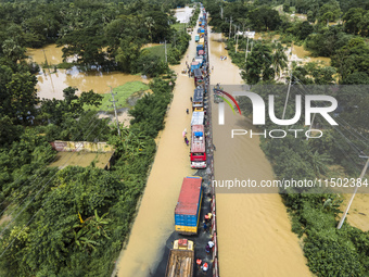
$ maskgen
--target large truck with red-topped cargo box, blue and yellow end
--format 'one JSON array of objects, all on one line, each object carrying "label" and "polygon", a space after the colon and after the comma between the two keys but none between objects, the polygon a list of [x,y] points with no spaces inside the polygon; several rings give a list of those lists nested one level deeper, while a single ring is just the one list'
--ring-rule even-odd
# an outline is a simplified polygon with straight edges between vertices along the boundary
[{"label": "large truck with red-topped cargo box, blue and yellow end", "polygon": [[203,190],[202,177],[184,177],[175,209],[176,231],[183,235],[196,235],[199,229]]}]

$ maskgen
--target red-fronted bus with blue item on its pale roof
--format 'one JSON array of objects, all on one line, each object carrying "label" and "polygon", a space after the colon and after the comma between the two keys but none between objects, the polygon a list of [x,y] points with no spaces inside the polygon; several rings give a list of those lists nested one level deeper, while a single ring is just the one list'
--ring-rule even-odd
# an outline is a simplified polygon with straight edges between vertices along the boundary
[{"label": "red-fronted bus with blue item on its pale roof", "polygon": [[191,127],[191,168],[206,168],[206,143],[204,125]]}]

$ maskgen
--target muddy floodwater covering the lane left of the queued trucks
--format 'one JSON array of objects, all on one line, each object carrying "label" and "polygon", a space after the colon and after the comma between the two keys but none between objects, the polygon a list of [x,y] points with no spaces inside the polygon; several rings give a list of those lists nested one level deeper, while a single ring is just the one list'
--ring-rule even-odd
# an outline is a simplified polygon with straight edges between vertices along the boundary
[{"label": "muddy floodwater covering the lane left of the queued trucks", "polygon": [[190,130],[191,114],[186,114],[186,109],[191,110],[194,85],[193,78],[180,73],[194,52],[192,34],[181,64],[173,66],[178,74],[174,99],[127,248],[117,261],[118,277],[147,277],[154,272],[165,241],[174,230],[174,210],[182,179],[194,173],[190,167],[189,148],[182,138],[183,129]]}]

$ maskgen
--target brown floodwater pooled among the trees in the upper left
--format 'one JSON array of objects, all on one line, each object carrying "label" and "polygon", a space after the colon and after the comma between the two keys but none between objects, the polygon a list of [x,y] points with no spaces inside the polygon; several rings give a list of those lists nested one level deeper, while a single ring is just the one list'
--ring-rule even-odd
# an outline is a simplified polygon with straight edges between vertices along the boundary
[{"label": "brown floodwater pooled among the trees in the upper left", "polygon": [[[27,54],[40,65],[44,63],[46,55],[48,64],[55,65],[62,62],[63,53],[61,48],[50,45],[42,49],[28,49]],[[148,79],[143,79],[140,75],[119,72],[81,72],[76,66],[71,70],[56,70],[56,72],[53,68],[44,68],[37,75],[37,95],[46,99],[63,99],[63,89],[67,87],[78,88],[77,95],[91,89],[97,93],[106,93],[110,91],[109,86],[114,88],[133,80],[148,83]]]}]

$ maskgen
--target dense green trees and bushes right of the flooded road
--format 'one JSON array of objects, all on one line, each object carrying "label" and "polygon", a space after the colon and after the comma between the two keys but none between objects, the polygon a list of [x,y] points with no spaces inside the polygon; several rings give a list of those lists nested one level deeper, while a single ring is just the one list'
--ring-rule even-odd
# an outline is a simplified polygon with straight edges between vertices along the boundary
[{"label": "dense green trees and bushes right of the flooded road", "polygon": [[[320,139],[306,140],[304,135],[295,139],[264,139],[260,147],[273,166],[279,179],[315,179],[331,177],[357,178],[362,166],[359,154],[369,153],[367,87],[338,86],[368,83],[368,1],[268,1],[214,2],[205,5],[212,14],[211,24],[227,37],[232,25],[238,29],[267,32],[268,39],[250,39],[245,61],[246,38],[237,39],[231,26],[227,48],[232,62],[242,68],[242,77],[252,85],[265,102],[275,95],[277,118],[282,117],[285,92],[292,77],[285,118],[295,111],[295,96],[330,95],[338,99],[339,110],[334,118],[338,127],[331,127],[319,116],[314,127],[323,130]],[[222,18],[221,18],[222,8]],[[304,13],[307,21],[295,20],[292,12]],[[340,21],[340,16],[342,22]],[[329,22],[336,22],[329,25]],[[273,35],[280,35],[273,39]],[[277,40],[277,41],[272,41]],[[236,45],[238,43],[238,47]],[[331,58],[331,65],[318,63],[292,63],[289,72],[288,51],[283,45],[302,45],[313,55]],[[291,75],[290,75],[291,74]],[[326,85],[326,86],[307,86]],[[331,86],[334,85],[332,88]],[[242,112],[252,115],[250,100],[239,98]],[[268,108],[266,108],[268,109]],[[281,129],[267,122],[266,129]],[[304,116],[287,129],[307,130]],[[301,133],[303,134],[303,133]],[[280,135],[280,134],[279,134]],[[292,230],[304,238],[304,253],[308,266],[317,276],[367,276],[369,274],[369,231],[361,231],[347,223],[338,230],[342,198],[323,189],[287,189],[281,197],[292,215]]]}]

